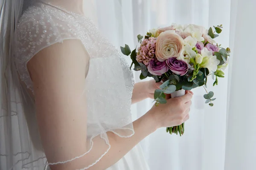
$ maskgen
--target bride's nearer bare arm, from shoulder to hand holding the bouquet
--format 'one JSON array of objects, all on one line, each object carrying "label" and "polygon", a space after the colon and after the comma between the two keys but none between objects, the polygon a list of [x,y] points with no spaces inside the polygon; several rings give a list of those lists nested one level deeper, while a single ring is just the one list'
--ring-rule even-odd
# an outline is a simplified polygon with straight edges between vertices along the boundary
[{"label": "bride's nearer bare arm, from shoulder to hand holding the bouquet", "polygon": [[[74,57],[74,51],[76,56]],[[66,40],[40,51],[28,63],[35,87],[35,104],[41,141],[48,162],[64,161],[80,156],[87,150],[86,100],[81,94],[88,55],[81,42]],[[133,122],[134,136],[121,138],[107,132],[111,148],[90,170],[105,170],[158,127],[180,125],[188,119],[192,94],[169,99],[166,105],[153,107]],[[89,128],[89,127],[88,127]],[[85,156],[65,164],[52,165],[52,170],[80,169],[90,165],[98,156],[100,137]]]}]

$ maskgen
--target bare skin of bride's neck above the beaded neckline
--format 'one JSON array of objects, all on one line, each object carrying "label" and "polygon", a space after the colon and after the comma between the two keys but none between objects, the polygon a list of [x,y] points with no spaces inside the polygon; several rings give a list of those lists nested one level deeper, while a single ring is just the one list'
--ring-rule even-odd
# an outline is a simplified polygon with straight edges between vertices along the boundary
[{"label": "bare skin of bride's neck above the beaded neckline", "polygon": [[83,0],[46,0],[54,6],[60,6],[68,11],[84,14]]}]

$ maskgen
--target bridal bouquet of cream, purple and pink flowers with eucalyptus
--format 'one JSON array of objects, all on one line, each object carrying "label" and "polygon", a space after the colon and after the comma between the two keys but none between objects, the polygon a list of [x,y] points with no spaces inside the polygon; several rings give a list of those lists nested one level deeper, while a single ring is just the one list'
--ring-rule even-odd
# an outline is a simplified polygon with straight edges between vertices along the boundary
[{"label": "bridal bouquet of cream, purple and pink flowers with eucalyptus", "polygon": [[[173,24],[151,29],[144,39],[142,35],[137,36],[138,49],[131,51],[125,44],[121,51],[131,57],[131,67],[134,65],[135,71],[141,71],[140,79],[153,77],[156,82],[163,82],[161,89],[154,92],[155,105],[166,103],[166,94],[175,97],[179,92],[184,95],[184,90],[202,86],[206,91],[205,103],[213,106],[212,101],[216,98],[213,98],[212,91],[207,92],[207,79],[212,77],[215,80],[213,86],[218,85],[218,77],[224,77],[223,71],[230,56],[230,48],[222,48],[214,40],[221,28],[222,25],[207,30],[192,24]],[[167,127],[166,132],[181,136],[184,123]]]}]

